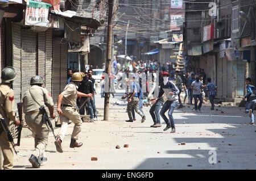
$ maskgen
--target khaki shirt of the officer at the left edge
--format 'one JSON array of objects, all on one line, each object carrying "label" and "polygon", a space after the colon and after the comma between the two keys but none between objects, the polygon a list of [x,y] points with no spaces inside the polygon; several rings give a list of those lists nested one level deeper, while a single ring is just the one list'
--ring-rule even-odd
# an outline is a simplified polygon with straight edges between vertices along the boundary
[{"label": "khaki shirt of the officer at the left edge", "polygon": [[[14,108],[14,93],[13,90],[5,84],[0,84],[0,117],[7,120],[17,120],[15,113],[13,112]],[[9,121],[6,120],[7,125]]]}]

